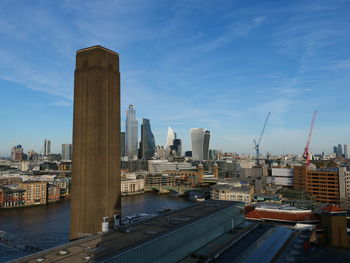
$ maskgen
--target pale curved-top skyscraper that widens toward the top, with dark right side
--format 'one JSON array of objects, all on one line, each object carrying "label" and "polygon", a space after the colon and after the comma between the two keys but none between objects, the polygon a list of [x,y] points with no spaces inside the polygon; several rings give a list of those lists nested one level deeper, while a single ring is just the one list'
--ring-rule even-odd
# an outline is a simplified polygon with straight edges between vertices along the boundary
[{"label": "pale curved-top skyscraper that widens toward the top, with dark right side", "polygon": [[208,160],[210,131],[203,128],[191,129],[192,159],[194,161]]}]

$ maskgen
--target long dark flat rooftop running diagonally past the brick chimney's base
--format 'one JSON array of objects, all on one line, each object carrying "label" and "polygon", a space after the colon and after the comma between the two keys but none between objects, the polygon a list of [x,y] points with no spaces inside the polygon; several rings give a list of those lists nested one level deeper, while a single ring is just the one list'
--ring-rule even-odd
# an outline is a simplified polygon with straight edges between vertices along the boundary
[{"label": "long dark flat rooftop running diagonally past the brick chimney's base", "polygon": [[207,200],[137,224],[123,226],[123,232],[90,236],[11,262],[102,261],[233,206],[242,206],[242,203]]}]

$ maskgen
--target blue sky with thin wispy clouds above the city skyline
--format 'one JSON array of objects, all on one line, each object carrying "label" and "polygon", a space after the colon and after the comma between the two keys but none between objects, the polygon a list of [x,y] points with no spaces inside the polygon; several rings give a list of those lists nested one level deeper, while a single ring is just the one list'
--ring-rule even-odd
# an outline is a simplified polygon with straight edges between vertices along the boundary
[{"label": "blue sky with thin wispy clouds above the city skyline", "polygon": [[[350,143],[350,1],[2,0],[0,156],[72,140],[75,53],[119,53],[121,119],[135,105],[156,144],[170,125],[210,148],[301,154]],[[140,134],[140,131],[139,131]]]}]

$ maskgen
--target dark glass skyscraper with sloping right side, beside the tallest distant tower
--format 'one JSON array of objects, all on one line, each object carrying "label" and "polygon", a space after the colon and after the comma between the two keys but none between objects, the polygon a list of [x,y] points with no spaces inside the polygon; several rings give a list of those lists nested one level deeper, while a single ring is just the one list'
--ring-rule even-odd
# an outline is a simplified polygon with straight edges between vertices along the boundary
[{"label": "dark glass skyscraper with sloping right side, beside the tallest distant tower", "polygon": [[156,150],[156,142],[151,130],[149,119],[142,119],[141,125],[141,152],[143,160],[152,159]]}]

